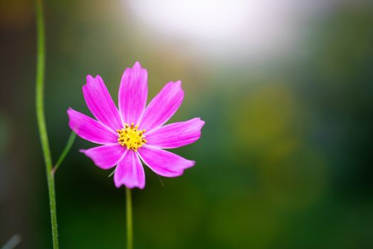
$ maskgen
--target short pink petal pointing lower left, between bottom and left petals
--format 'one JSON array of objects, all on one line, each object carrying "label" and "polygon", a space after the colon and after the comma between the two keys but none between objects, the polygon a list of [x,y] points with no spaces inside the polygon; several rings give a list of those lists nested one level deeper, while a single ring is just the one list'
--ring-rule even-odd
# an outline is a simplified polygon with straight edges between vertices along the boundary
[{"label": "short pink petal pointing lower left, between bottom and left petals", "polygon": [[101,169],[110,169],[118,164],[126,149],[120,144],[105,144],[92,149],[80,149],[80,152],[90,157]]}]

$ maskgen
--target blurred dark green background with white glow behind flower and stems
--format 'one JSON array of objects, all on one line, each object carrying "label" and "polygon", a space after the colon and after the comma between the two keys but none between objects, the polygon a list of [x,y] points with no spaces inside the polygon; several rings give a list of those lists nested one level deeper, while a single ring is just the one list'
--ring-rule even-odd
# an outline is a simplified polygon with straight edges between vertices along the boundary
[{"label": "blurred dark green background with white glow behind flower and stems", "polygon": [[[0,4],[0,245],[52,248],[34,107],[33,1]],[[197,164],[146,170],[136,248],[373,248],[371,1],[47,1],[45,105],[53,159],[67,107],[101,75],[148,68],[149,98],[182,80],[171,121],[202,117]],[[125,193],[76,139],[56,174],[60,248],[125,248]],[[163,186],[164,185],[164,186]]]}]

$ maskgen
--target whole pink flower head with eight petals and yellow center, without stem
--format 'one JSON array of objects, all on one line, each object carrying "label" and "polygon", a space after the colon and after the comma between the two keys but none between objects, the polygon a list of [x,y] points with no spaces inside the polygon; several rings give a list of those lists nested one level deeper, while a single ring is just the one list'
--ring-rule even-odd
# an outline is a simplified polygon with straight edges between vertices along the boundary
[{"label": "whole pink flower head with eight petals and yellow center, without stem", "polygon": [[175,177],[195,164],[164,149],[191,144],[200,138],[204,121],[196,117],[185,122],[165,124],[183,102],[181,82],[166,84],[146,107],[148,72],[136,62],[126,68],[119,87],[119,111],[104,81],[87,75],[83,85],[87,107],[97,120],[69,108],[70,128],[78,136],[96,144],[82,149],[101,169],[117,166],[114,183],[144,189],[141,161],[160,176]]}]

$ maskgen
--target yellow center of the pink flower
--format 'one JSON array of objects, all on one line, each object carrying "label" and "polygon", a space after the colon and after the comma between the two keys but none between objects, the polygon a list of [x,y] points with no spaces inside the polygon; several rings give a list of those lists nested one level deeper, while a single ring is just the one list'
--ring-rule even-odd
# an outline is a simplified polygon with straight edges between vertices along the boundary
[{"label": "yellow center of the pink flower", "polygon": [[119,138],[118,143],[127,149],[133,149],[135,152],[147,141],[144,136],[145,129],[139,130],[139,125],[134,126],[134,123],[124,124],[124,128],[117,129]]}]

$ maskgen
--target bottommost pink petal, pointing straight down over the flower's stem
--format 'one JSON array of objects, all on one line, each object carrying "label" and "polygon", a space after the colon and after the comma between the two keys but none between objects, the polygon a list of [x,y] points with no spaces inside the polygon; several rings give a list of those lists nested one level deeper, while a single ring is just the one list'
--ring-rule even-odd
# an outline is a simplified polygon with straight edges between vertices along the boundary
[{"label": "bottommost pink petal, pointing straight down over the flower's stem", "polygon": [[144,167],[142,166],[136,152],[134,152],[132,149],[128,150],[123,159],[119,161],[117,169],[115,169],[114,173],[114,183],[117,188],[124,185],[129,189],[133,189],[135,187],[144,189]]}]

